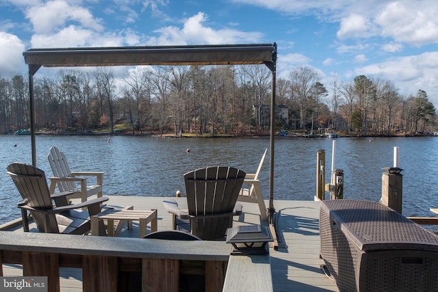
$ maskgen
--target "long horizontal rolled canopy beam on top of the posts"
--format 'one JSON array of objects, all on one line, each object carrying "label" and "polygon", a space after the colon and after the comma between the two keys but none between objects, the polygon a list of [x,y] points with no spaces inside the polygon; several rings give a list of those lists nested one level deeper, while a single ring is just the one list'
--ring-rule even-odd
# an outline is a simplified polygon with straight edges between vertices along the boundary
[{"label": "long horizontal rolled canopy beam on top of the posts", "polygon": [[276,46],[275,44],[239,44],[222,46],[29,49],[23,55],[26,64],[44,67],[255,65],[272,64],[274,62],[274,55],[276,55]]}]

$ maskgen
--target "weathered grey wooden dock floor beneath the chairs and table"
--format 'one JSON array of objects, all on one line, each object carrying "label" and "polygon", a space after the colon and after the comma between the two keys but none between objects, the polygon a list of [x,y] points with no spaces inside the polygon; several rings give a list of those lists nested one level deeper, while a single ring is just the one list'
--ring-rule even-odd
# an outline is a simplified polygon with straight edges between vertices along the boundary
[{"label": "weathered grey wooden dock floor beneath the chairs and table", "polygon": [[[185,198],[175,198],[180,206]],[[164,210],[162,197],[110,196],[108,204],[134,206],[137,210],[157,209],[158,230],[170,229],[171,217]],[[235,217],[235,225],[267,224],[261,222],[257,204],[243,202],[244,213]],[[268,205],[268,202],[266,202]],[[274,201],[279,249],[270,248],[274,291],[338,291],[336,285],[322,271],[320,259],[319,213],[320,203],[313,201]],[[138,222],[133,222],[138,226]],[[149,229],[149,226],[148,226]],[[150,230],[148,230],[149,232]],[[18,228],[14,232],[23,232]],[[138,237],[138,228],[120,233],[120,237]],[[21,276],[14,265],[3,265],[4,276]],[[61,291],[81,291],[81,269],[62,268]]]}]

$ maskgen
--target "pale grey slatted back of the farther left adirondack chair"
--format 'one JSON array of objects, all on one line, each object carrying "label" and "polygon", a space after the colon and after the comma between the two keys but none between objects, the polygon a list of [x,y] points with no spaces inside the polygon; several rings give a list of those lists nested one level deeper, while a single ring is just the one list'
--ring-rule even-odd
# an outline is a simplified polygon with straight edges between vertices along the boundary
[{"label": "pale grey slatted back of the farther left adirondack chair", "polygon": [[[72,176],[70,168],[68,167],[67,158],[65,157],[64,153],[61,152],[57,147],[53,146],[50,148],[47,159],[49,160],[53,176],[60,178]],[[59,191],[73,191],[76,187],[75,183],[71,181],[58,181],[56,185]]]}]

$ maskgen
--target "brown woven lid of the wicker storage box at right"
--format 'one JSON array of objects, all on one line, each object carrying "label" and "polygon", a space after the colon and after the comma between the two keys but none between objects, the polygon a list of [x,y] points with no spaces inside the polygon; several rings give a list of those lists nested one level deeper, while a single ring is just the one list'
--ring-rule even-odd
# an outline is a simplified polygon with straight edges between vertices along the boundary
[{"label": "brown woven lid of the wicker storage box at right", "polygon": [[437,235],[380,202],[325,200],[321,212],[359,250],[438,251]]}]

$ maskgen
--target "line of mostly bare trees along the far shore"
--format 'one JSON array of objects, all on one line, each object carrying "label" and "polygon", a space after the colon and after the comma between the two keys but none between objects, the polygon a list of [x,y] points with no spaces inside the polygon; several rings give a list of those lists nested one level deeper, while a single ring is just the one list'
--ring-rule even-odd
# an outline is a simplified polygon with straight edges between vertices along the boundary
[{"label": "line of mostly bare trees along the far shore", "polygon": [[[263,135],[270,119],[271,72],[266,66],[153,66],[60,70],[34,79],[36,131],[84,133],[209,133]],[[278,130],[335,129],[356,135],[437,130],[435,107],[424,90],[403,96],[393,82],[359,75],[334,76],[324,85],[317,70],[300,66],[276,79]],[[27,76],[0,77],[0,133],[29,128]]]}]

